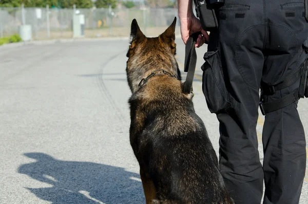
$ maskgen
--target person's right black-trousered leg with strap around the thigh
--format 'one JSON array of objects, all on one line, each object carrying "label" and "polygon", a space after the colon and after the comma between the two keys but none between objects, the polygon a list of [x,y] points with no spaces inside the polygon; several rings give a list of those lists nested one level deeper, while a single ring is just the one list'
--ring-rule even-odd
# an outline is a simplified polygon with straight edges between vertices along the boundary
[{"label": "person's right black-trousered leg with strap around the thigh", "polygon": [[[308,23],[302,15],[304,1],[288,2],[273,1],[266,5],[268,34],[262,80],[269,85],[282,82],[307,58],[302,47],[308,38]],[[274,8],[276,10],[273,11]],[[299,80],[271,96],[265,95],[264,102],[291,94],[298,87]],[[305,175],[306,142],[297,102],[266,114],[262,141],[265,183],[263,203],[299,203]]]}]

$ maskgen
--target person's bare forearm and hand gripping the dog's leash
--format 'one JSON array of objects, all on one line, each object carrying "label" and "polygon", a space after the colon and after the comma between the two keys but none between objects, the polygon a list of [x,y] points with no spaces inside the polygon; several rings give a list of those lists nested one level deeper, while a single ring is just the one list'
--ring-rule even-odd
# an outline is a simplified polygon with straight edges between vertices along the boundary
[{"label": "person's bare forearm and hand gripping the dog's leash", "polygon": [[185,45],[189,35],[199,31],[201,31],[203,36],[199,35],[196,47],[200,47],[205,42],[208,42],[208,34],[202,29],[199,19],[192,10],[192,0],[178,0],[178,15],[181,23],[181,36]]}]

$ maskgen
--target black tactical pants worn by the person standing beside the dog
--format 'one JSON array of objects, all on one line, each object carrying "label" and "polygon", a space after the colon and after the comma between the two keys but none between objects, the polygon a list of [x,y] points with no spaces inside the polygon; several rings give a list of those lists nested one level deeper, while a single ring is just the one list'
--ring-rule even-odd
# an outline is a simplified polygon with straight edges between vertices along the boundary
[{"label": "black tactical pants worn by the person standing beside the dog", "polygon": [[[226,0],[217,13],[219,30],[210,34],[202,87],[220,122],[220,170],[236,204],[261,203],[263,179],[263,203],[299,203],[306,143],[297,102],[266,114],[263,166],[256,125],[261,80],[278,84],[308,57],[303,12],[303,0]],[[265,102],[298,87],[299,81],[264,96]]]}]

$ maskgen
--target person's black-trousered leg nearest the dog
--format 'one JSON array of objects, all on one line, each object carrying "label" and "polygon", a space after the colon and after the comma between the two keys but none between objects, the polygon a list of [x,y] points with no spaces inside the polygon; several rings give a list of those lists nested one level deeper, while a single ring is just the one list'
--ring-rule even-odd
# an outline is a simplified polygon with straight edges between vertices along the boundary
[{"label": "person's black-trousered leg nearest the dog", "polygon": [[[263,169],[256,125],[266,30],[263,1],[226,1],[219,19],[219,55],[232,104],[216,113],[220,122],[220,171],[235,203],[260,204]],[[209,51],[215,47],[211,40],[213,36]]]}]

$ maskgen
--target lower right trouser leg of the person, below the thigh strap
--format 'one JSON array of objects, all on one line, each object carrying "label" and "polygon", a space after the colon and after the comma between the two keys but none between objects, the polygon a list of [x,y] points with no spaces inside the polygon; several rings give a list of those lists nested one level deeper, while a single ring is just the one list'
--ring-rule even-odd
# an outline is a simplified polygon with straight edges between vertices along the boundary
[{"label": "lower right trouser leg of the person, below the thigh strap", "polygon": [[[280,92],[277,95],[282,96]],[[306,144],[295,103],[266,115],[262,140],[263,203],[299,203],[306,168]]]}]

